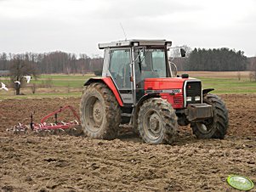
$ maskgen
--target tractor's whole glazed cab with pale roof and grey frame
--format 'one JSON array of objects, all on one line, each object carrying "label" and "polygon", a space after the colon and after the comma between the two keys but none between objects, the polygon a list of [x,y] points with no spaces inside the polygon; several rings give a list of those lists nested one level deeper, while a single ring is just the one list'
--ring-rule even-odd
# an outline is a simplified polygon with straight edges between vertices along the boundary
[{"label": "tractor's whole glazed cab with pale roof and grey frame", "polygon": [[[105,49],[102,76],[111,77],[124,104],[137,104],[149,78],[174,77],[165,40],[130,40],[99,44]],[[183,52],[184,54],[184,52]]]}]

